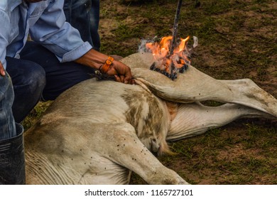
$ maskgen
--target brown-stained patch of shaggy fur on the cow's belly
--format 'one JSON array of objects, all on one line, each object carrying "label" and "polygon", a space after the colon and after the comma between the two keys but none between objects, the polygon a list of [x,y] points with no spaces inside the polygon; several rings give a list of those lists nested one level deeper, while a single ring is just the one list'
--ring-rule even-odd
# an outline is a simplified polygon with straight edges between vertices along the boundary
[{"label": "brown-stained patch of shaggy fur on the cow's belly", "polygon": [[[129,95],[121,96],[129,109],[126,112],[126,119],[135,129],[139,139],[149,149],[158,152],[161,149],[168,149],[165,142],[165,117],[161,103],[151,93],[126,91]],[[156,151],[157,150],[157,151]],[[162,152],[162,151],[161,151]]]}]

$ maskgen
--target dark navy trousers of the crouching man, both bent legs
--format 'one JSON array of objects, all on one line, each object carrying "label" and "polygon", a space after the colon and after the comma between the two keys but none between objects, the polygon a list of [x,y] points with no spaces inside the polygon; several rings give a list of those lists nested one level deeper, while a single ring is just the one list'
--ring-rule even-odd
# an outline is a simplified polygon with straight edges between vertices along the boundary
[{"label": "dark navy trousers of the crouching man, both bent legs", "polygon": [[74,62],[60,63],[43,46],[28,41],[21,59],[6,57],[6,70],[14,90],[13,117],[21,122],[39,99],[53,100],[69,87],[91,77],[92,68]]}]

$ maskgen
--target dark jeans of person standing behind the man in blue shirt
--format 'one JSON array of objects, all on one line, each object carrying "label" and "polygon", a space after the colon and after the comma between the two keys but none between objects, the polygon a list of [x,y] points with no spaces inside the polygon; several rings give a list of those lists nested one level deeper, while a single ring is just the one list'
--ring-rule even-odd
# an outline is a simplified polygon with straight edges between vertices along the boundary
[{"label": "dark jeans of person standing behind the man in blue shirt", "polygon": [[63,10],[66,21],[77,28],[82,40],[99,50],[99,0],[65,0]]}]

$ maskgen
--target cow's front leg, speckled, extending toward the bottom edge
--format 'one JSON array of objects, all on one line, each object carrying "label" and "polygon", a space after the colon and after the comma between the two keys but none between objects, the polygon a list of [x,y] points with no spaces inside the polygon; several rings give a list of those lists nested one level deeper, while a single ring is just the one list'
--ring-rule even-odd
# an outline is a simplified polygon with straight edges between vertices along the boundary
[{"label": "cow's front leg, speckled, extending toward the bottom edge", "polygon": [[99,139],[104,139],[106,146],[95,149],[101,149],[103,156],[134,171],[149,184],[188,184],[153,156],[131,124],[106,124],[99,128],[102,131]]}]

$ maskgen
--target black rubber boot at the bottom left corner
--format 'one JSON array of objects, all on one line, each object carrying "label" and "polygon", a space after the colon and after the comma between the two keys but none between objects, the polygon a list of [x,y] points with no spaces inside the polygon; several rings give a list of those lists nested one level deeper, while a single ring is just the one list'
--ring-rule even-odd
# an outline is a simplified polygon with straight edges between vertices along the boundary
[{"label": "black rubber boot at the bottom left corner", "polygon": [[16,135],[0,140],[0,185],[25,184],[23,127],[16,124]]}]

